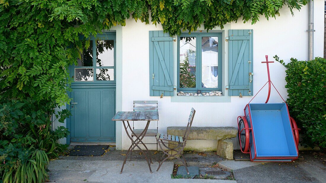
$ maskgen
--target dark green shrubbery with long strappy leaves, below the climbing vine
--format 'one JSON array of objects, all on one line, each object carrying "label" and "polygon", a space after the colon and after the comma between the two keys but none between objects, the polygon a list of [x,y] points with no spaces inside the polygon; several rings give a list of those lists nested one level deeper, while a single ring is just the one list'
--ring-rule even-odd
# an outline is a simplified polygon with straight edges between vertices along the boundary
[{"label": "dark green shrubbery with long strappy leaves, below the climbing vine", "polygon": [[[53,112],[51,103],[30,98],[0,103],[0,177],[3,182],[48,179],[45,170],[49,159],[64,150],[57,141],[69,133],[65,127],[52,131]],[[56,117],[63,122],[68,115],[70,112],[64,109]]]}]

